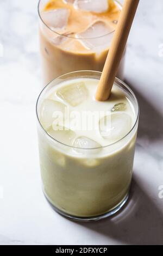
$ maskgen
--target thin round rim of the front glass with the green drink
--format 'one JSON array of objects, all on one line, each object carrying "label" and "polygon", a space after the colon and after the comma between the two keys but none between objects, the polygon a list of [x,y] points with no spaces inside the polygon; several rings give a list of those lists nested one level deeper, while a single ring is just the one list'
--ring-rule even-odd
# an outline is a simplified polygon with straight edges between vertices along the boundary
[{"label": "thin round rim of the front glass with the green drink", "polygon": [[39,114],[38,114],[38,111],[37,111],[37,107],[38,107],[38,103],[39,103],[39,100],[40,100],[40,96],[43,94],[43,92],[44,92],[49,86],[51,86],[51,84],[52,84],[53,82],[57,81],[58,79],[60,79],[60,78],[62,78],[62,77],[64,77],[64,76],[66,76],[66,75],[76,74],[76,73],[80,73],[80,72],[81,72],[81,73],[83,73],[83,72],[90,72],[90,73],[92,73],[92,72],[93,72],[93,73],[96,73],[96,74],[102,74],[102,72],[99,72],[99,71],[93,71],[93,70],[79,70],[79,71],[68,72],[68,73],[66,73],[66,74],[64,74],[64,75],[61,75],[61,76],[55,78],[55,79],[52,80],[51,82],[49,82],[49,83],[47,84],[47,86],[45,86],[45,87],[41,90],[41,93],[39,94],[39,96],[38,96],[38,98],[37,98],[37,101],[36,101],[36,117],[37,117],[37,121],[39,122],[39,125],[40,125],[41,129],[43,130],[43,132],[45,132],[46,135],[47,135],[50,139],[52,139],[52,141],[57,142],[57,143],[59,143],[59,144],[61,144],[61,145],[64,145],[64,146],[66,146],[66,147],[68,147],[68,148],[82,149],[82,150],[95,150],[95,149],[102,149],[102,148],[111,147],[112,145],[115,145],[115,144],[119,143],[120,141],[122,141],[124,138],[126,138],[126,137],[134,130],[134,128],[135,128],[135,126],[136,126],[136,124],[137,124],[137,122],[138,122],[138,120],[139,120],[139,115],[140,115],[139,102],[137,101],[137,98],[136,98],[136,96],[135,96],[133,90],[131,90],[130,87],[127,86],[126,83],[124,83],[123,81],[121,81],[121,80],[120,80],[119,78],[117,78],[117,77],[115,78],[115,82],[120,82],[121,84],[123,84],[123,86],[124,86],[125,88],[127,88],[127,89],[129,90],[129,93],[134,97],[134,100],[135,100],[136,105],[137,105],[137,116],[136,116],[136,118],[135,118],[135,123],[134,123],[134,125],[131,127],[130,131],[129,131],[125,136],[123,136],[121,139],[118,139],[118,141],[116,141],[116,142],[114,142],[114,143],[111,143],[111,144],[109,144],[109,145],[105,145],[105,146],[101,146],[101,147],[97,147],[97,148],[87,148],[87,149],[86,149],[86,148],[74,147],[74,146],[72,146],[72,145],[67,145],[67,144],[65,144],[65,143],[62,143],[62,142],[58,141],[57,139],[54,139],[54,138],[53,138],[51,135],[49,135],[49,133],[43,128],[43,126],[42,126],[42,124],[41,124],[41,122],[40,122]]}]

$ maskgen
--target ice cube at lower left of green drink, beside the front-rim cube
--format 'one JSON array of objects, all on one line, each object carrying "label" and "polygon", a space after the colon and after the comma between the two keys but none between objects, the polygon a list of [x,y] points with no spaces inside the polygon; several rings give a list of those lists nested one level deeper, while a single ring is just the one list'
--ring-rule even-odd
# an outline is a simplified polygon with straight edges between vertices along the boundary
[{"label": "ice cube at lower left of green drink, beside the front-rim cube", "polygon": [[51,135],[57,141],[64,143],[66,145],[73,145],[74,138],[76,133],[70,129],[67,129],[64,126],[58,127],[58,130],[53,129],[53,125],[47,130],[48,134]]}]

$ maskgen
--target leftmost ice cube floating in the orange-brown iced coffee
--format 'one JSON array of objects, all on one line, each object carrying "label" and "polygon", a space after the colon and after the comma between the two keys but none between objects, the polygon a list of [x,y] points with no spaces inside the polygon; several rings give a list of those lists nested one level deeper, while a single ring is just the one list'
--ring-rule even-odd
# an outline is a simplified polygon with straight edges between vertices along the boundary
[{"label": "leftmost ice cube floating in the orange-brown iced coffee", "polygon": [[68,23],[70,10],[66,8],[43,11],[42,19],[51,29],[64,29]]}]

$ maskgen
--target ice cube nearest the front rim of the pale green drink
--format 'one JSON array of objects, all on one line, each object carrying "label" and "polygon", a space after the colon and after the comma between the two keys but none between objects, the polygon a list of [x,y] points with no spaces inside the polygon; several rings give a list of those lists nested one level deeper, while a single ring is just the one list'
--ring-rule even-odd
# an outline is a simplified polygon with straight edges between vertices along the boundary
[{"label": "ice cube nearest the front rim of the pale green drink", "polygon": [[[84,153],[83,149],[88,149],[87,153],[97,153],[101,150],[101,145],[97,143],[96,141],[93,141],[90,138],[87,138],[85,136],[78,137],[74,143],[73,143],[74,150],[77,153]],[[97,148],[97,149],[96,149]],[[92,149],[90,151],[90,149]]]}]

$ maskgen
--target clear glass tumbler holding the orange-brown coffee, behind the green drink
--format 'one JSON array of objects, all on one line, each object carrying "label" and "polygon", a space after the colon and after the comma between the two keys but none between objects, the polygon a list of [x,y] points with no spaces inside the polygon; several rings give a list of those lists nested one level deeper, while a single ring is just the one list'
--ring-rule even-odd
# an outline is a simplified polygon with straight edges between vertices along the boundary
[{"label": "clear glass tumbler holding the orange-brown coffee, behind the green drink", "polygon": [[[114,31],[96,38],[82,38],[84,45],[89,45],[87,48],[83,48],[80,38],[76,38],[76,35],[59,34],[47,25],[43,19],[42,11],[48,2],[48,0],[40,0],[38,7],[43,83],[47,84],[68,72],[78,70],[102,71]],[[115,3],[121,8],[118,1]],[[112,20],[112,22],[116,23],[117,20]],[[124,57],[125,52],[117,73],[117,77],[121,80],[123,80]]]}]

